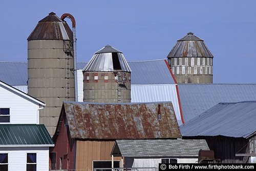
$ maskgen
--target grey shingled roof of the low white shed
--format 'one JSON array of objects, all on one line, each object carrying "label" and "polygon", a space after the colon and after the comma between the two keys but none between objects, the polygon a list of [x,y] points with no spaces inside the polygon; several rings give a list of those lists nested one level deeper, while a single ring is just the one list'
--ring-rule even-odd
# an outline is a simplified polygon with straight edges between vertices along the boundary
[{"label": "grey shingled roof of the low white shed", "polygon": [[209,150],[205,140],[116,140],[111,155],[122,157],[195,157]]}]

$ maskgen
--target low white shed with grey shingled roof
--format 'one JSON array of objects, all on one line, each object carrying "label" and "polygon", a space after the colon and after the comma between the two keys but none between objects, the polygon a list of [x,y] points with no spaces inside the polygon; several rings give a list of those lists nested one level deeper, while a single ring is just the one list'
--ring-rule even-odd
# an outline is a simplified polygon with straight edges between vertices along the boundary
[{"label": "low white shed with grey shingled roof", "polygon": [[121,157],[124,168],[150,170],[158,163],[198,163],[199,150],[209,150],[205,140],[116,140],[111,155]]}]

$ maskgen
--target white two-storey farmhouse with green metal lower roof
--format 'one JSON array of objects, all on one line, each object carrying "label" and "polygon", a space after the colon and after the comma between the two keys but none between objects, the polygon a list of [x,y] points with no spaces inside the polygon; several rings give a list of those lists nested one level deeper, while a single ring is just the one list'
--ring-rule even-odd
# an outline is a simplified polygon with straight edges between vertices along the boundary
[{"label": "white two-storey farmhouse with green metal lower roof", "polygon": [[45,103],[0,81],[0,170],[49,170],[54,142],[39,110]]}]

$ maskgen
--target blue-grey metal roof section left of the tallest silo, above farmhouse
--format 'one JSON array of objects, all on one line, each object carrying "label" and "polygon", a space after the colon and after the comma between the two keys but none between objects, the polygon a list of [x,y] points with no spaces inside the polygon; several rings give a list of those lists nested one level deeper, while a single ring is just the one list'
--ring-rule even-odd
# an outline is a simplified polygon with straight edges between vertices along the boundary
[{"label": "blue-grey metal roof section left of the tallest silo, above farmhouse", "polygon": [[28,62],[0,62],[0,81],[6,84],[28,85]]}]

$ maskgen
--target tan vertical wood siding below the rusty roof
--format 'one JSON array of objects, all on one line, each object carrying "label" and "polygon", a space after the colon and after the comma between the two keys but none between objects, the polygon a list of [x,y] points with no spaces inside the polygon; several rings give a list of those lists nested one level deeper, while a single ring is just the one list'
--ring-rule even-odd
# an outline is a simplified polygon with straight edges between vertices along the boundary
[{"label": "tan vertical wood siding below the rusty roof", "polygon": [[[114,143],[114,140],[77,140],[76,169],[85,169],[88,167],[92,170],[92,163],[94,160],[112,160],[110,154]],[[114,157],[114,160],[121,161],[121,158]]]}]

